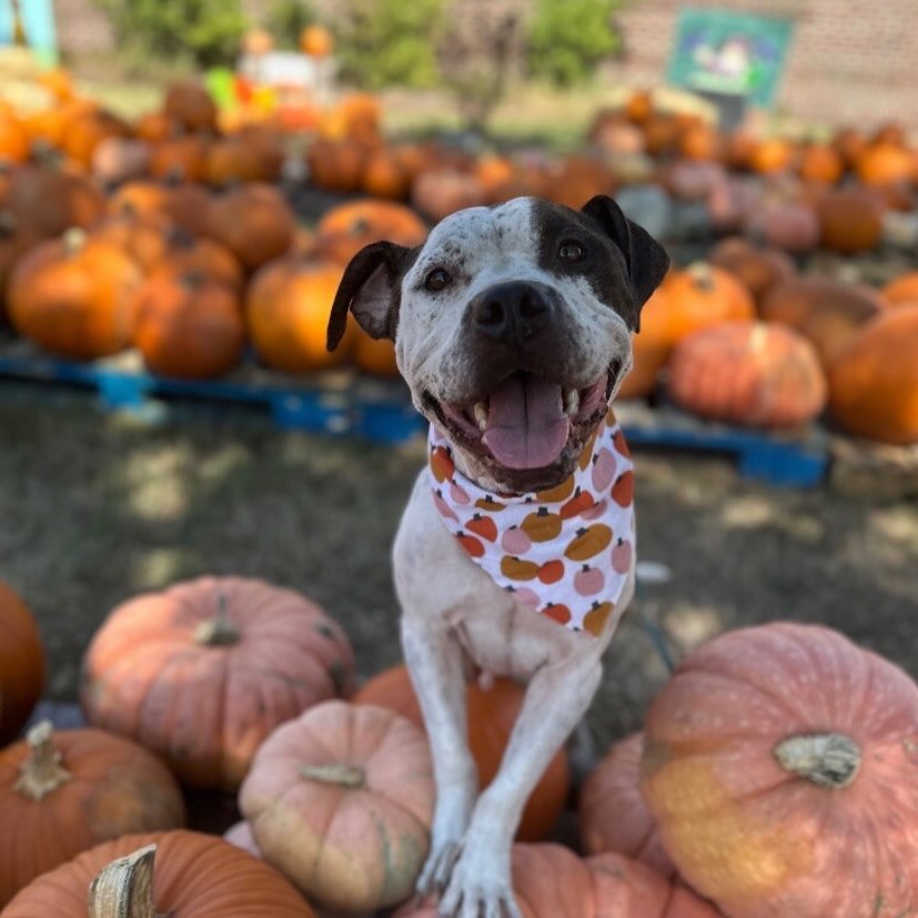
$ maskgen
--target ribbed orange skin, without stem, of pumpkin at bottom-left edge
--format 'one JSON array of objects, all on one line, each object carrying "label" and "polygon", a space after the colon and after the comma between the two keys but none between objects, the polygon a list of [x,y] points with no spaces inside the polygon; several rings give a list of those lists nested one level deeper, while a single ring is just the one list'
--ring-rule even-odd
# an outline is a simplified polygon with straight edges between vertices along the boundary
[{"label": "ribbed orange skin, without stem, of pumpkin at bottom-left edge", "polygon": [[155,843],[153,898],[169,918],[315,918],[299,892],[263,861],[222,838],[194,831],[128,835],[107,841],[23,889],[3,918],[88,918],[87,890],[103,867]]}]

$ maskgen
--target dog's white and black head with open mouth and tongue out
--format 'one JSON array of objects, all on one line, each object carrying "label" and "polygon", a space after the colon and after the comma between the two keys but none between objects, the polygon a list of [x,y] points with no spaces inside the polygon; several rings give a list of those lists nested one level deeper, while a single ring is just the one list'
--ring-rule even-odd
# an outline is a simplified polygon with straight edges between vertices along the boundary
[{"label": "dog's white and black head with open mouth and tongue out", "polygon": [[415,406],[486,487],[551,487],[574,468],[632,364],[631,332],[668,258],[611,199],[472,208],[417,249],[377,242],[344,272],[347,311],[395,341]]}]

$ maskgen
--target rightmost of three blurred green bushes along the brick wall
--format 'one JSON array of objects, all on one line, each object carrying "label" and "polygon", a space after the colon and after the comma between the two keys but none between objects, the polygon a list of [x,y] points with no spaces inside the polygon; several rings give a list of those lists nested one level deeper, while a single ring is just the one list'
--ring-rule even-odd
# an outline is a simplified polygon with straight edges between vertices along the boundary
[{"label": "rightmost of three blurred green bushes along the brick wall", "polygon": [[559,87],[587,79],[619,47],[622,0],[537,0],[529,23],[529,72]]}]

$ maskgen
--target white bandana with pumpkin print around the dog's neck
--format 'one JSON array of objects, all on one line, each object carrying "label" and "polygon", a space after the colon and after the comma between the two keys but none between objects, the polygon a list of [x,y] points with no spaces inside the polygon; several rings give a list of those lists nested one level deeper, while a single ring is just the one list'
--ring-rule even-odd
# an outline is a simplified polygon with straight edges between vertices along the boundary
[{"label": "white bandana with pumpkin print around the dog's neck", "polygon": [[433,426],[430,467],[446,528],[497,586],[575,632],[598,636],[617,617],[635,549],[634,465],[612,410],[574,474],[548,491],[484,491]]}]

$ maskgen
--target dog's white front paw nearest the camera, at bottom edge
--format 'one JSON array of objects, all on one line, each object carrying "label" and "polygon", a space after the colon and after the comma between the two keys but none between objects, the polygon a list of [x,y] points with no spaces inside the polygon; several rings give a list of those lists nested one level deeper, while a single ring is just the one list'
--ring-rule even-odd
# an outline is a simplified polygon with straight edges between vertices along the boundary
[{"label": "dog's white front paw nearest the camera, at bottom edge", "polygon": [[440,899],[440,918],[522,918],[510,881],[510,858],[463,849]]}]

